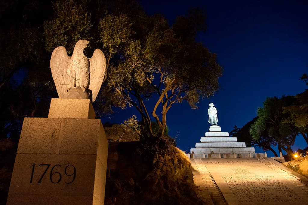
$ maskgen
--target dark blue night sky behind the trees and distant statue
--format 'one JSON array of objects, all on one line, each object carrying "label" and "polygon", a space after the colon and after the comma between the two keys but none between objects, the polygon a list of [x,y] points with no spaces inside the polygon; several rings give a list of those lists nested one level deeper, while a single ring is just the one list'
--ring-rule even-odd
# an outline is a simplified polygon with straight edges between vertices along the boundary
[{"label": "dark blue night sky behind the trees and distant statue", "polygon": [[[224,68],[221,90],[191,110],[174,105],[167,114],[169,135],[189,152],[209,129],[207,109],[213,102],[223,132],[252,120],[266,97],[296,95],[307,87],[299,78],[308,65],[307,1],[139,1],[149,15],[163,14],[170,24],[176,16],[199,7],[208,16],[208,30],[197,41],[217,53]],[[151,103],[150,101],[148,103]],[[119,111],[103,122],[122,123],[134,108]],[[298,136],[293,151],[307,144]],[[263,152],[256,148],[256,152]],[[267,152],[274,156],[272,152]],[[284,153],[285,154],[285,153]]]}]

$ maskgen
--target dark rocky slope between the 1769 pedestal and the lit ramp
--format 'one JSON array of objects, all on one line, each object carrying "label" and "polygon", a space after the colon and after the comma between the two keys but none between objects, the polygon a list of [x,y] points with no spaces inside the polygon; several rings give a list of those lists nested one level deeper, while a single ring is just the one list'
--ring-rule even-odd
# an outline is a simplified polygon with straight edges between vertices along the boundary
[{"label": "dark rocky slope between the 1769 pedestal and the lit ramp", "polygon": [[105,204],[202,204],[187,156],[174,146],[156,152],[144,143],[109,143]]}]

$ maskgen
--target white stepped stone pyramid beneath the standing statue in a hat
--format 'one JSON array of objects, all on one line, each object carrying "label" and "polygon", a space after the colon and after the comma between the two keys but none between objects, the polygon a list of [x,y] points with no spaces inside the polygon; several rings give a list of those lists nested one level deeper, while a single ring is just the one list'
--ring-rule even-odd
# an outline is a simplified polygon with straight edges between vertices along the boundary
[{"label": "white stepped stone pyramid beneath the standing statue in a hat", "polygon": [[229,132],[221,132],[221,127],[212,125],[209,132],[201,137],[195,148],[190,149],[192,158],[248,158],[260,157],[253,147],[246,147],[245,142],[237,142],[237,137],[230,137]]}]

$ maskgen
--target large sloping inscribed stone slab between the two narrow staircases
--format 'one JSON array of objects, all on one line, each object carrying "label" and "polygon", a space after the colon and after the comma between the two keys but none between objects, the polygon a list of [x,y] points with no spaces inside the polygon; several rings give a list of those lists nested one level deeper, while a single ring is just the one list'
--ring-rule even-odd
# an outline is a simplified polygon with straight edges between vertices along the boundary
[{"label": "large sloping inscribed stone slab between the two narrow staircases", "polygon": [[[305,204],[308,193],[300,182],[258,159],[200,159],[229,205]],[[199,163],[200,167],[200,163]],[[200,168],[199,168],[200,169]]]}]

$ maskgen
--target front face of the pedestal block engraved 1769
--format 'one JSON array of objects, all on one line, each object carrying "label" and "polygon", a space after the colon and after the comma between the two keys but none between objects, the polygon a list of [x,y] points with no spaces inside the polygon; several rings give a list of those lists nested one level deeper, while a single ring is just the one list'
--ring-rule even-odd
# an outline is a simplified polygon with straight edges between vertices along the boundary
[{"label": "front face of the pedestal block engraved 1769", "polygon": [[95,155],[17,154],[9,195],[93,196],[95,164]]}]

